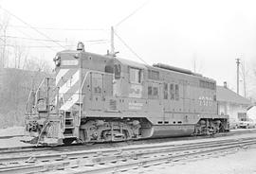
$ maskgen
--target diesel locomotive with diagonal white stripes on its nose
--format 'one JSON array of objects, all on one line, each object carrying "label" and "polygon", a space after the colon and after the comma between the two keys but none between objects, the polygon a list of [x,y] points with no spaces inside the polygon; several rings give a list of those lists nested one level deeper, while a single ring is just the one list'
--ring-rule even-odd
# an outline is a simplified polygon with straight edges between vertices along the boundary
[{"label": "diesel locomotive with diagonal white stripes on its nose", "polygon": [[29,143],[126,141],[229,130],[219,115],[216,81],[190,70],[64,50],[27,100]]}]

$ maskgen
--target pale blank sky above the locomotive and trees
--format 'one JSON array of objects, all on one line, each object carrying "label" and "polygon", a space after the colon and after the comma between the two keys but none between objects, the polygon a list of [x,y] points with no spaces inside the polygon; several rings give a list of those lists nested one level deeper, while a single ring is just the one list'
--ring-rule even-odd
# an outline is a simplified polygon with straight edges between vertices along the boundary
[{"label": "pale blank sky above the locomotive and trees", "polygon": [[[56,52],[75,48],[79,41],[86,51],[106,54],[114,26],[148,64],[195,70],[219,85],[227,81],[233,90],[235,59],[245,61],[247,69],[256,65],[254,0],[0,0],[0,6],[11,13],[9,36],[58,41],[17,39],[29,55],[52,64]],[[141,62],[119,38],[114,40],[118,56]]]}]

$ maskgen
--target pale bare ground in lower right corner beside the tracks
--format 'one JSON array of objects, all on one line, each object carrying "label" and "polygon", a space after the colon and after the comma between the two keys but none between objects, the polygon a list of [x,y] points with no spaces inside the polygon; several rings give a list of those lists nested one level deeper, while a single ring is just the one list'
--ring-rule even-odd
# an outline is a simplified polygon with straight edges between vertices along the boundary
[{"label": "pale bare ground in lower right corner beside the tracks", "polygon": [[155,165],[126,174],[256,174],[256,146],[237,152],[190,162]]}]

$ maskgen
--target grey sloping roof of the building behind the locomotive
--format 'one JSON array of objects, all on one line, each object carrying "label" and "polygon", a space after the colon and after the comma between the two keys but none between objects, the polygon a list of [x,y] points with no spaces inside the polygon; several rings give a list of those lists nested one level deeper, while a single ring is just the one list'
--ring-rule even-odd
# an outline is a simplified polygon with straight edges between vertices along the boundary
[{"label": "grey sloping roof of the building behind the locomotive", "polygon": [[217,101],[224,101],[236,104],[250,105],[250,100],[244,96],[237,95],[229,88],[217,86]]}]

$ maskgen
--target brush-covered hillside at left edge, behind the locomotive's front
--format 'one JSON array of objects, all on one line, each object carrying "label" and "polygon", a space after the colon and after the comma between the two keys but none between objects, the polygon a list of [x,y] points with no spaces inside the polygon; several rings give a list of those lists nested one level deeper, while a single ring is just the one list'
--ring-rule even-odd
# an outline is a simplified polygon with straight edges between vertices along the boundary
[{"label": "brush-covered hillside at left edge, behind the locomotive's front", "polygon": [[36,89],[46,73],[15,68],[0,70],[0,128],[22,126],[30,89]]}]

